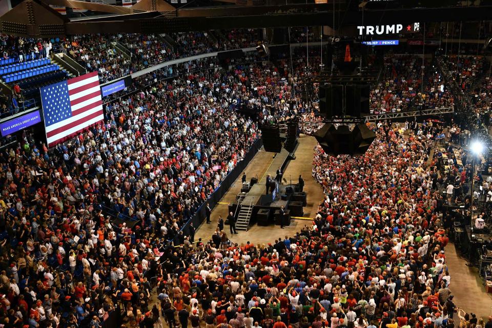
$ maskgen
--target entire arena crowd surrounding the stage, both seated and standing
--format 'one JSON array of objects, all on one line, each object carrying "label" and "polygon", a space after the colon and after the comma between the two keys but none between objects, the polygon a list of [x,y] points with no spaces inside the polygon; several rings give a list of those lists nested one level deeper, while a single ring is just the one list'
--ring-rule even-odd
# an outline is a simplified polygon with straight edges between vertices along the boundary
[{"label": "entire arena crowd surrounding the stage, both seated and standing", "polygon": [[[227,37],[248,42],[241,35]],[[217,46],[205,33],[177,33],[179,46],[168,52],[160,37],[59,42],[104,80]],[[113,40],[138,59],[115,51]],[[128,325],[141,327],[484,328],[451,293],[449,217],[429,158],[435,135],[447,133],[441,126],[379,123],[364,156],[330,157],[317,147],[313,176],[325,198],[293,236],[234,244],[217,232],[195,243],[192,225],[184,235],[259,137],[243,112],[317,119],[303,84],[316,73],[305,58],[228,69],[210,60],[139,77],[131,95],[105,105],[104,124],[65,145],[48,150],[25,134],[0,153],[0,324],[98,328],[122,308]],[[319,67],[319,57],[309,60]],[[453,103],[437,73],[417,92],[419,60],[387,59],[384,83],[372,91],[375,111],[405,110],[416,98]]]}]

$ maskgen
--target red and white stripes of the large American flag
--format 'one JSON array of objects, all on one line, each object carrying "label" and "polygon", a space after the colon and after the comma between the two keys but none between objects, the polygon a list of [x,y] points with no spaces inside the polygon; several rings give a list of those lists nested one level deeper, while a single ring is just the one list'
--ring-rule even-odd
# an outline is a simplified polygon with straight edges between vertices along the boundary
[{"label": "red and white stripes of the large American flag", "polygon": [[104,120],[97,71],[71,78],[67,84],[72,117],[46,127],[48,147],[70,139]]}]

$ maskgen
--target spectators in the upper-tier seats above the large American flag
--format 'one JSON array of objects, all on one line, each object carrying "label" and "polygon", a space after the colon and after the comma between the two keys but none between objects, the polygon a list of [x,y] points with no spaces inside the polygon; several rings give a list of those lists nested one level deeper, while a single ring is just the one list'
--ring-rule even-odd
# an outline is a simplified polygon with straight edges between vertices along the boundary
[{"label": "spectators in the upper-tier seats above the large American flag", "polygon": [[[220,31],[227,50],[256,46],[257,30]],[[157,34],[72,35],[67,38],[34,39],[0,34],[3,58],[15,57],[22,62],[49,57],[54,47],[65,51],[86,70],[98,71],[101,82],[107,82],[163,61],[224,50],[222,40],[207,32],[169,34],[170,40]],[[227,37],[227,39],[225,39]],[[118,49],[115,42],[127,49]],[[128,53],[125,51],[128,50]]]}]

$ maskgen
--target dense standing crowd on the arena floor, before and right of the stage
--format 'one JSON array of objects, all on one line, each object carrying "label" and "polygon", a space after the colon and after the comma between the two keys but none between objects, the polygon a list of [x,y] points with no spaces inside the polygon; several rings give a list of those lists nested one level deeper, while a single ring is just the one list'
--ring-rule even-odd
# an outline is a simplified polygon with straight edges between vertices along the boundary
[{"label": "dense standing crowd on the arena floor, before and right of the stage", "polygon": [[432,135],[403,125],[374,129],[378,137],[364,156],[331,157],[316,147],[313,176],[325,199],[297,234],[224,246],[216,232],[170,252],[148,321],[209,328],[484,326],[453,301],[449,239],[426,183]]}]

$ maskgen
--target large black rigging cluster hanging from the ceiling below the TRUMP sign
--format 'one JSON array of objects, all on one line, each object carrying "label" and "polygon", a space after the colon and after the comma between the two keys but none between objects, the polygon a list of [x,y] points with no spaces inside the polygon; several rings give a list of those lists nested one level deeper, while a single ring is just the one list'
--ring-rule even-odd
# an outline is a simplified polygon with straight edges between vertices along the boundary
[{"label": "large black rigging cluster hanging from the ceiling below the TRUMP sign", "polygon": [[325,123],[314,136],[323,151],[332,156],[362,155],[376,138],[365,125],[364,116],[370,113],[370,85],[377,83],[381,68],[362,68],[362,59],[351,59],[351,44],[343,43],[344,56],[337,56],[343,60],[335,60],[336,51],[332,50],[335,68],[325,66],[329,70],[312,79],[319,83],[319,113]]}]

